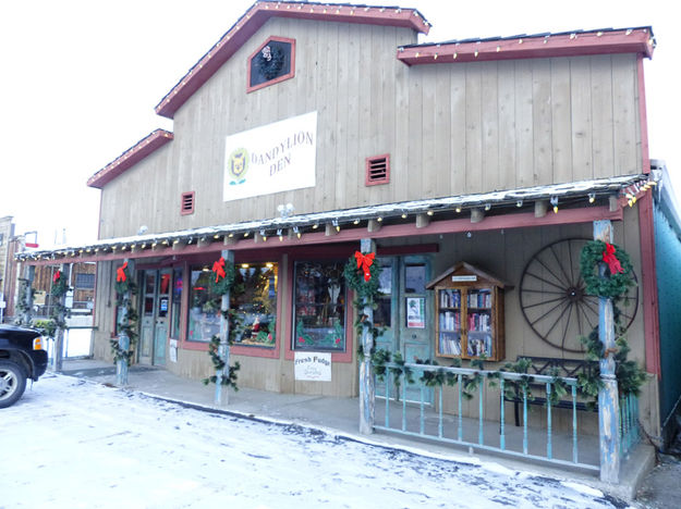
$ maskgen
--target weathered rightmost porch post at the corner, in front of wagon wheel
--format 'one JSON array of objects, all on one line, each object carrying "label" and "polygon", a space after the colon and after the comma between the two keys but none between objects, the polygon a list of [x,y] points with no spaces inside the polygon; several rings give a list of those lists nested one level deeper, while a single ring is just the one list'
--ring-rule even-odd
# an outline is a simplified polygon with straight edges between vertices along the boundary
[{"label": "weathered rightmost porch post at the corner, in front of wagon wheel", "polygon": [[[612,243],[610,221],[594,221],[594,239]],[[600,263],[598,272],[605,275],[606,264]],[[598,390],[598,430],[600,436],[600,480],[618,483],[620,479],[620,410],[617,378],[615,376],[615,318],[612,300],[598,298],[598,338],[606,355],[600,359],[603,387]]]}]

